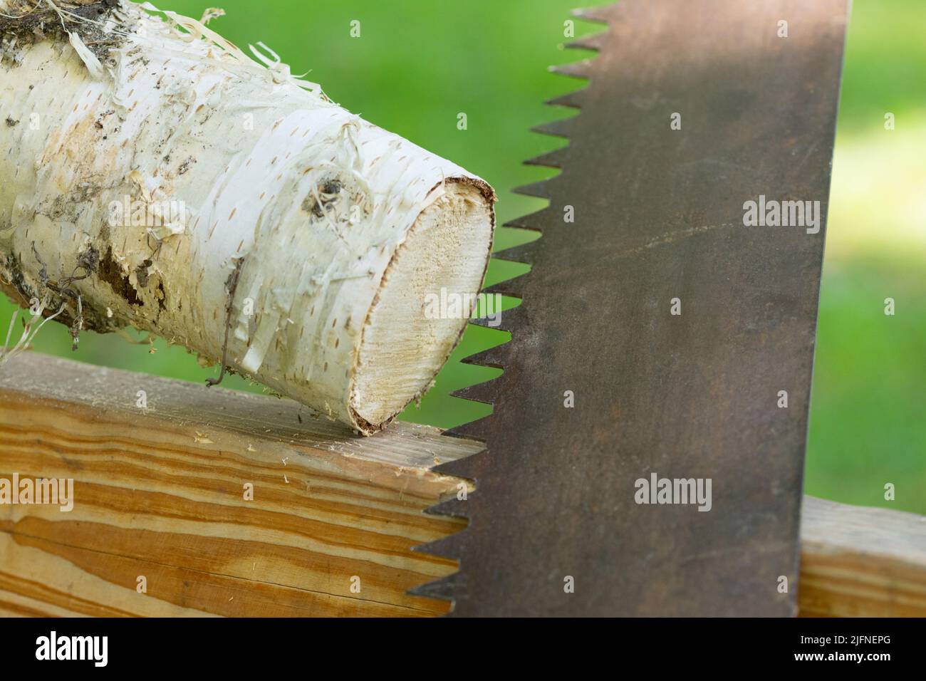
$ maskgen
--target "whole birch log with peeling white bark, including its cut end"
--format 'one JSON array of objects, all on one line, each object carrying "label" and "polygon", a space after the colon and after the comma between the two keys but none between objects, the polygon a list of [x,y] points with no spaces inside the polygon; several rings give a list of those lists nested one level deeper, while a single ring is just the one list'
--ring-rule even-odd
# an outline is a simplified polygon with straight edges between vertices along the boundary
[{"label": "whole birch log with peeling white bark, including its cut end", "polygon": [[144,7],[0,0],[5,291],[64,306],[75,331],[227,351],[233,371],[381,429],[466,326],[470,309],[429,319],[425,300],[479,291],[492,188]]}]

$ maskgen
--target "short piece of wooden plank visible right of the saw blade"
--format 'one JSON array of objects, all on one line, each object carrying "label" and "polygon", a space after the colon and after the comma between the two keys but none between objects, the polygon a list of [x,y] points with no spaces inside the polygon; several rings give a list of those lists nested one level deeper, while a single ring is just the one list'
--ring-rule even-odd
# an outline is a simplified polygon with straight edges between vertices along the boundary
[{"label": "short piece of wooden plank visible right of the saw blade", "polygon": [[926,517],[805,497],[800,614],[926,617]]}]

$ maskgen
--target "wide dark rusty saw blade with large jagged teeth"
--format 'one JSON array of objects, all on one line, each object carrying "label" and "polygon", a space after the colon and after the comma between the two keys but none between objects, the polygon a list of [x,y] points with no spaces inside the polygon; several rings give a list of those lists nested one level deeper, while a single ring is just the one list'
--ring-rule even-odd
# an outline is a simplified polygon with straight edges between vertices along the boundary
[{"label": "wide dark rusty saw blade with large jagged teeth", "polygon": [[570,144],[522,190],[551,202],[514,223],[542,238],[502,254],[533,266],[495,289],[523,300],[503,314],[513,337],[474,358],[505,372],[462,393],[494,403],[457,429],[487,450],[438,469],[475,480],[435,509],[469,527],[419,548],[460,569],[417,593],[458,615],[795,612],[846,14],[579,13],[607,32],[560,69],[590,79],[555,102],[581,113],[545,126]]}]

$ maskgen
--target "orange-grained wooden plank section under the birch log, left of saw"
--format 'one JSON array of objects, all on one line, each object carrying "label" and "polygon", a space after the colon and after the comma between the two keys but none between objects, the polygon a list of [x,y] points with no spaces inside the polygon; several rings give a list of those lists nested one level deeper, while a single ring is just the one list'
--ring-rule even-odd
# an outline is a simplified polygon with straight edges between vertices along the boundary
[{"label": "orange-grained wooden plank section under the birch log, left of saw", "polygon": [[0,371],[0,443],[0,478],[74,479],[72,511],[0,505],[0,613],[22,615],[445,612],[406,591],[456,562],[410,549],[465,525],[422,512],[460,483],[429,469],[480,448],[31,354]]}]

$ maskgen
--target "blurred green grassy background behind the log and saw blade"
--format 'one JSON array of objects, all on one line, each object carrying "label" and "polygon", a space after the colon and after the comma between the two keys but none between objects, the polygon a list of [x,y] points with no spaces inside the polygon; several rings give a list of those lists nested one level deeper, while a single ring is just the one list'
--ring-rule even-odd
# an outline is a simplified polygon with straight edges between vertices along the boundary
[{"label": "blurred green grassy background behind the log and saw blade", "polygon": [[[545,99],[581,86],[547,71],[588,56],[565,50],[564,21],[577,0],[223,0],[211,28],[244,48],[263,41],[294,73],[310,71],[336,102],[476,172],[498,192],[499,224],[543,208],[512,195],[554,173],[520,161],[564,144],[528,132],[574,115]],[[202,0],[162,0],[199,18]],[[926,12],[923,0],[855,0],[832,175],[827,253],[813,385],[806,491],[848,503],[926,513]],[[350,22],[360,21],[352,38]],[[576,21],[576,34],[599,31]],[[457,130],[457,113],[469,128]],[[895,130],[884,114],[895,114]],[[496,250],[532,238],[500,230]],[[526,268],[494,261],[488,284]],[[893,317],[884,298],[896,301]],[[514,301],[508,301],[514,304]],[[13,307],[3,300],[0,323]],[[459,359],[507,340],[470,326],[409,421],[450,427],[490,408],[449,397],[497,370]],[[191,381],[215,375],[182,347],[81,336],[70,351],[49,324],[42,352]],[[226,387],[260,386],[226,378]],[[774,465],[774,461],[764,462]],[[896,487],[885,501],[886,483]]]}]

